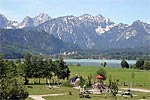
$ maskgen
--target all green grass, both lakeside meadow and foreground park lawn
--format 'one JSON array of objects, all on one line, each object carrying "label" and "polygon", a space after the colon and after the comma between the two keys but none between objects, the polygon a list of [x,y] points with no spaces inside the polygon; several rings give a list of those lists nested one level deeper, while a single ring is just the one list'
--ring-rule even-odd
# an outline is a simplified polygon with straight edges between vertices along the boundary
[{"label": "all green grass, both lakeside meadow and foreground park lawn", "polygon": [[[87,78],[87,76],[91,75],[92,81],[96,81],[94,75],[96,71],[99,69],[99,67],[77,67],[77,66],[70,66],[71,70],[71,77],[73,77],[75,74],[81,75],[84,78]],[[131,87],[129,83],[132,81],[131,74],[134,72],[134,79],[133,79],[133,86],[132,88],[144,88],[144,89],[150,89],[150,71],[141,71],[136,69],[122,69],[122,68],[104,68],[107,72],[107,79],[105,81],[106,84],[108,84],[109,76],[111,75],[112,79],[119,79],[119,88],[121,90],[122,83],[126,82],[125,86],[126,88]],[[43,82],[45,82],[45,79],[43,79]],[[64,80],[61,80],[63,83]],[[46,100],[88,100],[87,98],[79,98],[79,90],[73,89],[72,87],[65,87],[61,86],[59,88],[56,88],[54,90],[49,89],[48,85],[31,85],[33,88],[27,88],[30,95],[43,95],[43,94],[60,94],[63,93],[63,96],[44,96]],[[150,93],[143,93],[143,92],[134,92],[132,91],[134,95],[137,95],[133,98],[127,97],[121,97],[117,96],[117,100],[127,99],[127,100],[139,100],[144,99],[150,100]],[[71,94],[71,95],[70,95]],[[109,96],[107,99],[105,99],[105,94],[102,95],[91,95],[91,100],[112,100],[112,97]],[[27,98],[27,100],[33,100],[31,98]]]}]

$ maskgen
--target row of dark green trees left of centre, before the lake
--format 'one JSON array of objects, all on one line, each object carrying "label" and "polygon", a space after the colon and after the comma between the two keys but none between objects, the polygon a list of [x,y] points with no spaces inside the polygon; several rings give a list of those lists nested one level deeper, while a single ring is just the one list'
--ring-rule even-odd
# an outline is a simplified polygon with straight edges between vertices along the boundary
[{"label": "row of dark green trees left of centre, before the lake", "polygon": [[68,79],[70,70],[63,59],[52,61],[43,56],[31,56],[28,52],[24,57],[24,76],[26,78],[51,78]]}]

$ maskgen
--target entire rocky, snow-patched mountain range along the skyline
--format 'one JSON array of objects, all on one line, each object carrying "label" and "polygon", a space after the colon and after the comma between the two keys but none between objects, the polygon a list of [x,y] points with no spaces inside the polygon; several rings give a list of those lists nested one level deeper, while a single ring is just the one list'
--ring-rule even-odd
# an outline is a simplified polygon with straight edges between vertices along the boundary
[{"label": "entire rocky, snow-patched mountain range along the skyline", "polygon": [[[70,45],[67,50],[81,49],[81,50],[104,50],[104,49],[122,49],[122,48],[149,48],[150,45],[150,24],[142,22],[140,20],[134,21],[131,25],[124,23],[116,24],[109,18],[105,18],[102,15],[90,15],[84,14],[81,16],[62,16],[58,18],[51,18],[48,14],[40,13],[38,16],[31,18],[25,17],[22,22],[8,20],[4,15],[0,14],[0,34],[1,38],[14,37],[23,38],[25,34],[29,32],[30,40],[36,41],[37,43],[49,43],[44,48],[46,50],[49,46],[57,41],[63,44]],[[32,31],[34,32],[32,33]],[[5,31],[5,32],[4,32]],[[13,31],[13,32],[11,32]],[[20,34],[16,34],[19,33]],[[47,36],[52,36],[55,41],[51,41],[50,38],[45,38],[44,41],[36,39],[40,37],[40,32],[45,32]],[[35,34],[37,33],[37,34]],[[28,37],[28,38],[29,38]],[[11,40],[11,39],[10,39]],[[7,39],[7,42],[14,43]],[[53,39],[52,39],[53,40]],[[21,41],[21,40],[18,40]],[[3,41],[1,41],[3,43]],[[61,44],[60,43],[60,44]],[[30,42],[28,45],[33,45]],[[57,46],[56,46],[57,45]],[[61,47],[59,43],[55,44],[56,48]],[[53,49],[55,48],[53,46]],[[42,50],[42,46],[40,52]],[[65,46],[64,46],[65,47]],[[58,53],[64,47],[59,48],[53,53]],[[23,49],[23,47],[17,47]],[[34,48],[34,45],[33,45]],[[35,50],[36,51],[36,50]],[[47,53],[47,52],[46,52]]]}]

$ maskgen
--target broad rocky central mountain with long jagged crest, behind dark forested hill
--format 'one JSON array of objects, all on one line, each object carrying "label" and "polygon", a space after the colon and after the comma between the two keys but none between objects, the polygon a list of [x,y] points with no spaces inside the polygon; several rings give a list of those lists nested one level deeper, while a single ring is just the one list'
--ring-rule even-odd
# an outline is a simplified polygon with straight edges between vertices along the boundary
[{"label": "broad rocky central mountain with long jagged crest, behind dark forested hill", "polygon": [[101,15],[84,14],[79,17],[64,16],[55,18],[40,24],[36,28],[53,34],[64,42],[74,43],[81,49],[99,49],[105,46],[100,43],[103,39],[96,33],[96,29],[98,27],[106,28],[113,24]]}]

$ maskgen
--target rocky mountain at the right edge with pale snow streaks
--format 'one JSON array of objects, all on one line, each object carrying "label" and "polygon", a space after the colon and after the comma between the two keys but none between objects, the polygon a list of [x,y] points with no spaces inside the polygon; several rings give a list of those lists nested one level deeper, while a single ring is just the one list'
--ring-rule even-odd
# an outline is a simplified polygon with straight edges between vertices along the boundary
[{"label": "rocky mountain at the right edge with pale snow streaks", "polygon": [[[149,24],[139,20],[133,22],[131,26],[118,24],[102,36],[107,40],[109,48],[139,48],[148,45],[150,33],[145,30]],[[147,28],[148,29],[148,28]]]}]

